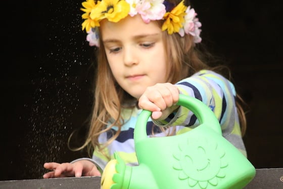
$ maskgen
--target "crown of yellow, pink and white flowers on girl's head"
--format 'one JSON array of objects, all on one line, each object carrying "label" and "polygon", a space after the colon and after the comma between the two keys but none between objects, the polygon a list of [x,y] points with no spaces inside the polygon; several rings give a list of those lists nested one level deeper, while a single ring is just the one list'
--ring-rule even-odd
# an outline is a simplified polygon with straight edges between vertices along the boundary
[{"label": "crown of yellow, pink and white flowers on girl's head", "polygon": [[[194,42],[200,43],[202,24],[196,18],[197,13],[191,6],[186,7],[184,0],[177,6],[164,0],[86,0],[82,3],[81,10],[83,21],[82,30],[88,33],[86,40],[90,46],[99,47],[100,21],[108,19],[111,22],[119,22],[126,16],[140,14],[145,23],[151,20],[165,20],[162,31],[167,30],[169,34],[178,32],[181,36],[191,34]],[[174,7],[175,6],[175,7]]]}]

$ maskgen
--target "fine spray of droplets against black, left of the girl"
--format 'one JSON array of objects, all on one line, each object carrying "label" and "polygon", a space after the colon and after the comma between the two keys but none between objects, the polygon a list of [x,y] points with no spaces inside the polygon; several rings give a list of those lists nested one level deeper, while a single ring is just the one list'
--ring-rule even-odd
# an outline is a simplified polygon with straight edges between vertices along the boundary
[{"label": "fine spray of droplets against black, left of the girl", "polygon": [[89,67],[89,47],[81,30],[81,1],[54,1],[48,6],[41,27],[45,52],[35,57],[39,62],[31,81],[28,141],[21,149],[26,178],[42,178],[44,162],[64,159],[68,136],[77,127],[72,120],[78,114],[80,94],[88,83],[82,71]]}]

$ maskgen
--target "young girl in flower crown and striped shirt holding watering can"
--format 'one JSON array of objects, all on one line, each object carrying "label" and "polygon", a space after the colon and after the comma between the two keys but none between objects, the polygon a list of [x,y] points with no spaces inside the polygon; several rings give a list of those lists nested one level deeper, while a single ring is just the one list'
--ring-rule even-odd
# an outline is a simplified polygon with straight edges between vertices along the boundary
[{"label": "young girl in flower crown and striped shirt holding watering can", "polygon": [[137,165],[133,131],[142,109],[152,111],[147,124],[151,137],[198,126],[190,110],[175,105],[180,93],[209,106],[223,136],[246,156],[240,98],[216,67],[202,61],[197,50],[201,23],[194,9],[177,1],[82,3],[82,29],[89,44],[98,47],[98,71],[89,132],[79,149],[91,146],[93,155],[71,163],[45,163],[51,171],[43,178],[99,176],[114,152],[128,165]]}]

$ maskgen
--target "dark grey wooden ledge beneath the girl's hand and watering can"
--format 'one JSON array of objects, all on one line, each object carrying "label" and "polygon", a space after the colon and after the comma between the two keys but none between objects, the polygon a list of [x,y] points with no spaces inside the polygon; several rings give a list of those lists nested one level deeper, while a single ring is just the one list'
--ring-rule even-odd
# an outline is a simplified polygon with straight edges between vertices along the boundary
[{"label": "dark grey wooden ledge beneath the girl's hand and watering can", "polygon": [[[49,179],[6,180],[0,181],[1,189],[63,189],[93,188],[100,189],[101,177],[68,177]],[[283,168],[256,169],[255,178],[245,189],[283,189]]]}]

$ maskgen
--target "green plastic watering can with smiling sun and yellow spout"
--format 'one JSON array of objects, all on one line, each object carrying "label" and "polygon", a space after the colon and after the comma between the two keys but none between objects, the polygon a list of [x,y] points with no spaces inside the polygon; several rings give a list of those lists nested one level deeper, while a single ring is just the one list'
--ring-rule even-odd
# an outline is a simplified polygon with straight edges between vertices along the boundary
[{"label": "green plastic watering can with smiling sun and yellow spout", "polygon": [[114,154],[102,174],[102,189],[243,188],[255,167],[222,136],[219,121],[200,100],[180,94],[178,105],[194,112],[200,125],[167,137],[148,137],[151,111],[143,110],[134,129],[138,166]]}]

